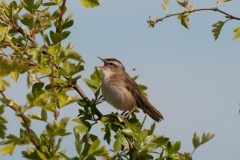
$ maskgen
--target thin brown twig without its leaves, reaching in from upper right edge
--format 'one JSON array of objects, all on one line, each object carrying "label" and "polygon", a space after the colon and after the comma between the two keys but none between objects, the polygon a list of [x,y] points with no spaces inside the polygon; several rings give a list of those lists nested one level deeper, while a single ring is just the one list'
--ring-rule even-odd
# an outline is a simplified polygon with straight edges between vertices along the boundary
[{"label": "thin brown twig without its leaves, reaching in from upper right edge", "polygon": [[199,11],[215,11],[215,12],[219,12],[219,13],[222,13],[224,15],[227,16],[227,18],[229,19],[236,19],[236,20],[240,20],[240,18],[238,17],[235,17],[235,16],[232,16],[231,14],[229,13],[226,13],[218,8],[201,8],[201,9],[194,9],[192,11],[184,11],[184,12],[179,12],[179,13],[174,13],[174,14],[167,14],[165,17],[162,17],[162,18],[157,18],[157,19],[151,19],[151,17],[149,17],[149,21],[147,21],[149,24],[156,24],[158,23],[159,21],[162,21],[164,20],[165,18],[168,18],[168,17],[172,17],[172,16],[178,16],[180,14],[185,14],[185,13],[192,13],[192,12],[199,12]]}]

